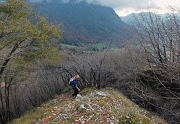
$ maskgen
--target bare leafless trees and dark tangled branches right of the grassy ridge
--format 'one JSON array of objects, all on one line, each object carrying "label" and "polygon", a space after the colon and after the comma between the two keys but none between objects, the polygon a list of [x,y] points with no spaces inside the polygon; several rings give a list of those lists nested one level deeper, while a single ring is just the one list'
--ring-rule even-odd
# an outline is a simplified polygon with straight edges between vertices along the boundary
[{"label": "bare leafless trees and dark tangled branches right of the grassy ridge", "polygon": [[[136,95],[132,97],[169,123],[179,123],[180,18],[175,13],[163,17],[149,12],[135,19],[137,41],[147,65],[143,65],[146,70],[137,74],[135,81],[138,84],[131,87]],[[171,101],[174,102],[173,107]]]}]

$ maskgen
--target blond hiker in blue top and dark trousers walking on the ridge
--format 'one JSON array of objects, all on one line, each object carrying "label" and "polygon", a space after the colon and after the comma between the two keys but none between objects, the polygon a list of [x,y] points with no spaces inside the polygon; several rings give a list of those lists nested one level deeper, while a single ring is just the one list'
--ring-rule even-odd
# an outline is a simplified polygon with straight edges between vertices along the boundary
[{"label": "blond hiker in blue top and dark trousers walking on the ridge", "polygon": [[74,90],[74,93],[72,94],[73,98],[76,98],[77,94],[80,92],[80,89],[78,87],[78,81],[79,80],[80,80],[79,75],[76,75],[70,79],[70,85],[71,85],[72,89]]}]

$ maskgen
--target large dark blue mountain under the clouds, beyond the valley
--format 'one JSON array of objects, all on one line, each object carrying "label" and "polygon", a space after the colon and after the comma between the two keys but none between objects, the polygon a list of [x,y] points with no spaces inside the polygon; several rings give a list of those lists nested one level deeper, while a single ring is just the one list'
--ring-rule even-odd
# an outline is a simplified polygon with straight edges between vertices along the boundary
[{"label": "large dark blue mountain under the clouds, beyond the valley", "polygon": [[63,26],[61,42],[78,45],[109,43],[121,44],[130,36],[126,25],[112,8],[86,2],[39,2],[35,11],[51,22]]}]

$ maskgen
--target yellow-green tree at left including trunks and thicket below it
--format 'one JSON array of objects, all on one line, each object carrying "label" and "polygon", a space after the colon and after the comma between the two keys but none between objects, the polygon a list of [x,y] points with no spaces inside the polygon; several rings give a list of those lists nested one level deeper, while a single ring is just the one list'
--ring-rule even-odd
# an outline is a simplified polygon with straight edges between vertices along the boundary
[{"label": "yellow-green tree at left including trunks and thicket below it", "polygon": [[31,97],[22,97],[29,92],[25,88],[40,64],[59,61],[61,34],[59,26],[37,16],[22,0],[0,3],[0,123],[20,117],[29,107]]}]

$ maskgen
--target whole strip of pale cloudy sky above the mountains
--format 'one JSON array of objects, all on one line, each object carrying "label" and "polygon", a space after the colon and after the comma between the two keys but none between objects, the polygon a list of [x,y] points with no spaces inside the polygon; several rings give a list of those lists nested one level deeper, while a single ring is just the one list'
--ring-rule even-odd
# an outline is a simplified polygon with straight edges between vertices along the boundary
[{"label": "whole strip of pale cloudy sky above the mountains", "polygon": [[[42,0],[31,0],[42,1]],[[51,0],[46,0],[51,1]],[[59,0],[68,2],[69,0]],[[164,13],[168,6],[180,7],[180,0],[74,0],[96,3],[103,6],[112,7],[119,16],[126,16],[130,13],[137,13],[143,10]]]}]

